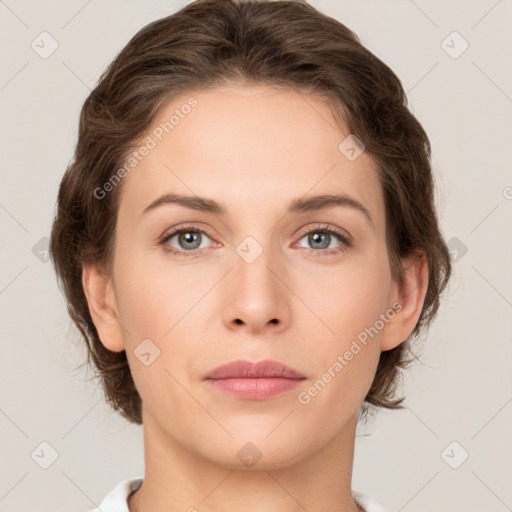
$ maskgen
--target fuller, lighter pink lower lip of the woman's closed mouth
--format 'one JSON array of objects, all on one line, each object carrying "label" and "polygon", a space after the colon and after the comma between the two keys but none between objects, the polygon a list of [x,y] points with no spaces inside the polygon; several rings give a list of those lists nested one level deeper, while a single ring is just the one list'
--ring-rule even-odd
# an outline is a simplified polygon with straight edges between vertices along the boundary
[{"label": "fuller, lighter pink lower lip of the woman's closed mouth", "polygon": [[304,379],[272,378],[229,378],[207,379],[214,388],[239,398],[265,400],[296,388]]}]

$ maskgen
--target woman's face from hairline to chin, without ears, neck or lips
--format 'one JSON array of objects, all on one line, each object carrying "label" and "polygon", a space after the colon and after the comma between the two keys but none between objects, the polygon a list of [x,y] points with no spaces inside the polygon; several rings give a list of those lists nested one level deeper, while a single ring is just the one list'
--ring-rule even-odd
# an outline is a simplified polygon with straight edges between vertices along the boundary
[{"label": "woman's face from hairline to chin, without ears, neck or lips", "polygon": [[[232,467],[252,442],[279,467],[357,414],[395,288],[376,167],[340,151],[348,135],[318,96],[238,85],[175,98],[141,139],[150,149],[123,179],[116,228],[118,349],[145,424],[169,442]],[[147,209],[165,194],[195,203]],[[306,202],[323,195],[353,203]],[[264,359],[304,378],[252,398],[205,380]]]}]

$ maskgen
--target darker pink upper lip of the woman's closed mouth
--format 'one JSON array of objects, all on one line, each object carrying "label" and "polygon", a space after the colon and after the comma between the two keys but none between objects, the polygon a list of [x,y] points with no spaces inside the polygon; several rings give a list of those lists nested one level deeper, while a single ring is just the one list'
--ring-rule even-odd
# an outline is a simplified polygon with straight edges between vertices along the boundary
[{"label": "darker pink upper lip of the woman's closed mouth", "polygon": [[257,363],[250,361],[232,361],[223,364],[211,371],[205,379],[229,379],[234,377],[241,378],[264,378],[281,377],[286,379],[305,379],[297,370],[287,366],[279,361],[264,360]]}]

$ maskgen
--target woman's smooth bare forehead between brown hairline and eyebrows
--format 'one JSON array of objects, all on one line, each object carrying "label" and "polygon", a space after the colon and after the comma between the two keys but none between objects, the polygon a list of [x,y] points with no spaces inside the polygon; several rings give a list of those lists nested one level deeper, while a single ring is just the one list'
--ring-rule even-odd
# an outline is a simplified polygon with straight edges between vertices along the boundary
[{"label": "woman's smooth bare forehead between brown hairline and eyebrows", "polygon": [[365,152],[347,158],[340,144],[349,135],[317,95],[266,85],[182,94],[140,139],[151,149],[124,178],[120,210],[135,217],[173,192],[213,198],[228,215],[274,215],[327,193],[356,198],[381,222],[376,165]]}]

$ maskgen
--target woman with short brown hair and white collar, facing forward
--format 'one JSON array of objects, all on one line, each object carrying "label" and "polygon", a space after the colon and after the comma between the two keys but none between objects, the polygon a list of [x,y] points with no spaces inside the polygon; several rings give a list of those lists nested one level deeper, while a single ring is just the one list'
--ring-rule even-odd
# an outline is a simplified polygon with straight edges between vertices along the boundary
[{"label": "woman with short brown hair and white collar, facing forward", "polygon": [[451,273],[399,79],[302,1],[198,0],[84,103],[51,256],[145,474],[103,512],[384,511],[355,430],[395,409]]}]

